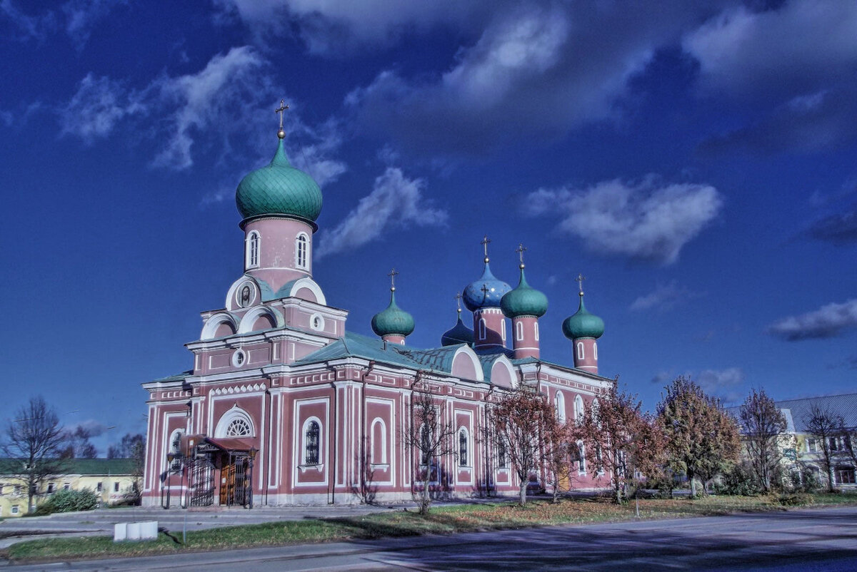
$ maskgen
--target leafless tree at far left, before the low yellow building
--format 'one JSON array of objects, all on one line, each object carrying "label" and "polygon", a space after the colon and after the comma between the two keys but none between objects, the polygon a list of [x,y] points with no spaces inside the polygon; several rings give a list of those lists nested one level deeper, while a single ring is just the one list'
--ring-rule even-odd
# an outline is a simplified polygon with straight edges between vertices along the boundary
[{"label": "leafless tree at far left, before the low yellow building", "polygon": [[41,494],[45,481],[63,474],[64,441],[57,413],[42,396],[31,397],[6,426],[3,456],[9,458],[11,474],[27,486],[28,512],[35,509],[33,498]]}]

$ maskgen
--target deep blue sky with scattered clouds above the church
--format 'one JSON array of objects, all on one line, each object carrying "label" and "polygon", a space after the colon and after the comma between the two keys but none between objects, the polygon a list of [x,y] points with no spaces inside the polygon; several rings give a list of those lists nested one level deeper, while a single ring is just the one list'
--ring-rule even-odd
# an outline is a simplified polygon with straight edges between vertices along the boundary
[{"label": "deep blue sky with scattered clouds above the church", "polygon": [[[481,273],[604,319],[654,408],[854,390],[857,3],[0,0],[3,420],[43,394],[103,451],[191,365],[242,271],[237,182],[320,183],[315,279],[351,331],[434,346]],[[106,429],[106,427],[113,427]]]}]

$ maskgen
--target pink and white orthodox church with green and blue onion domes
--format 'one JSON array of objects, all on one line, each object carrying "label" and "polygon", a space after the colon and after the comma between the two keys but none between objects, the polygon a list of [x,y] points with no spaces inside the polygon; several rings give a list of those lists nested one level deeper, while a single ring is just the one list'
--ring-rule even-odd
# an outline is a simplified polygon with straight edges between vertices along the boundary
[{"label": "pink and white orthodox church with green and blue onion domes", "polygon": [[[377,337],[350,331],[348,311],[328,304],[313,280],[321,189],[291,166],[282,128],[278,137],[271,163],[238,185],[244,272],[224,307],[201,313],[200,338],[186,344],[193,367],[143,384],[143,503],[410,499],[422,491],[427,463],[433,493],[516,493],[503,445],[483,437],[486,404],[529,385],[554,404],[560,420],[572,421],[614,383],[598,375],[604,324],[586,311],[582,288],[577,313],[562,324],[573,365],[539,358],[539,318],[548,300],[526,281],[523,248],[512,288],[494,277],[487,239],[482,276],[461,296],[472,330],[459,305],[458,321],[440,334],[440,347],[409,345],[414,319],[396,304],[393,272],[389,306],[371,323]],[[405,446],[417,386],[430,388],[442,422],[451,424],[452,453],[427,460]],[[587,471],[582,444],[578,452],[572,485],[608,486]],[[549,487],[545,470],[534,468],[528,486]]]}]

